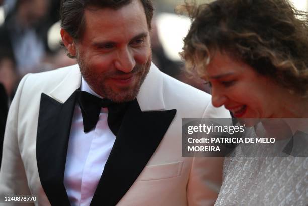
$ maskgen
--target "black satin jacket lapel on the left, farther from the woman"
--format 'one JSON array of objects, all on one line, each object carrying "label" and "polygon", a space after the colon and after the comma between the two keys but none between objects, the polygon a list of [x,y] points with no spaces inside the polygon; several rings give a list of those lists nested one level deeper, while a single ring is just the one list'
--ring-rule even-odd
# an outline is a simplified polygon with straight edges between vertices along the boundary
[{"label": "black satin jacket lapel on the left, farther from the woman", "polygon": [[36,158],[41,184],[51,205],[70,205],[63,179],[75,96],[73,93],[61,104],[41,95]]}]

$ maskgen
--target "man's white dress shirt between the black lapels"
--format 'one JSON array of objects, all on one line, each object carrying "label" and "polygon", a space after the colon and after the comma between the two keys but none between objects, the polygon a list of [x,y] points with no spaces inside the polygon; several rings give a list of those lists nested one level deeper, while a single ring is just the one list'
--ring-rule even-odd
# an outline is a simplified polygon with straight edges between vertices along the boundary
[{"label": "man's white dress shirt between the black lapels", "polygon": [[[100,97],[83,78],[81,90]],[[72,206],[90,205],[101,178],[116,138],[107,116],[108,109],[102,108],[96,127],[84,133],[81,109],[78,103],[75,105],[64,172],[64,185]]]}]

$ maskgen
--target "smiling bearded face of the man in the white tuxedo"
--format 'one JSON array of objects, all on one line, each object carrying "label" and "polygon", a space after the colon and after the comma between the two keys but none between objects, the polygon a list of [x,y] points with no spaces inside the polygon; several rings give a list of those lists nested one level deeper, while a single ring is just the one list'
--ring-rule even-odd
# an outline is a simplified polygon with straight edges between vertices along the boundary
[{"label": "smiling bearded face of the man in the white tuxedo", "polygon": [[139,0],[120,9],[88,8],[85,30],[73,45],[81,74],[100,96],[133,100],[149,71],[149,29]]}]

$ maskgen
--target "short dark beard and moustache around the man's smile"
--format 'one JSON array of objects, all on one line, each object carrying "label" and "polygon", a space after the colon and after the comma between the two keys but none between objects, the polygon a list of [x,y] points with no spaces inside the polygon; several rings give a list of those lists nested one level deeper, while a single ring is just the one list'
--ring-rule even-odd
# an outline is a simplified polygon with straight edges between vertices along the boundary
[{"label": "short dark beard and moustache around the man's smile", "polygon": [[[149,57],[145,64],[136,64],[133,70],[129,73],[120,70],[106,70],[101,73],[96,73],[93,72],[95,70],[91,70],[91,67],[86,63],[81,55],[77,55],[76,57],[80,72],[90,88],[101,97],[110,99],[117,103],[129,102],[137,97],[140,87],[151,66],[151,57]],[[110,77],[119,77],[128,74],[133,75],[137,81],[127,87],[117,87],[116,91],[114,87],[106,81]]]}]

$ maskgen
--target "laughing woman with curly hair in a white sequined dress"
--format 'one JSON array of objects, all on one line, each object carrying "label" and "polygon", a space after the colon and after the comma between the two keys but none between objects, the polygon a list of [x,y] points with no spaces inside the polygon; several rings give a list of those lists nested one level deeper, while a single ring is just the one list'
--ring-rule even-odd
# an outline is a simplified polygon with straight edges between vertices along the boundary
[{"label": "laughing woman with curly hair in a white sequined dress", "polygon": [[[182,57],[189,71],[211,84],[214,106],[225,106],[236,118],[263,119],[267,132],[273,127],[264,119],[308,117],[305,12],[287,0],[218,0],[180,10],[193,20]],[[307,133],[308,119],[301,119],[303,125],[283,122],[294,143],[306,144],[296,136]],[[308,205],[306,156],[243,157],[240,146],[236,157],[225,159],[215,205]]]}]

